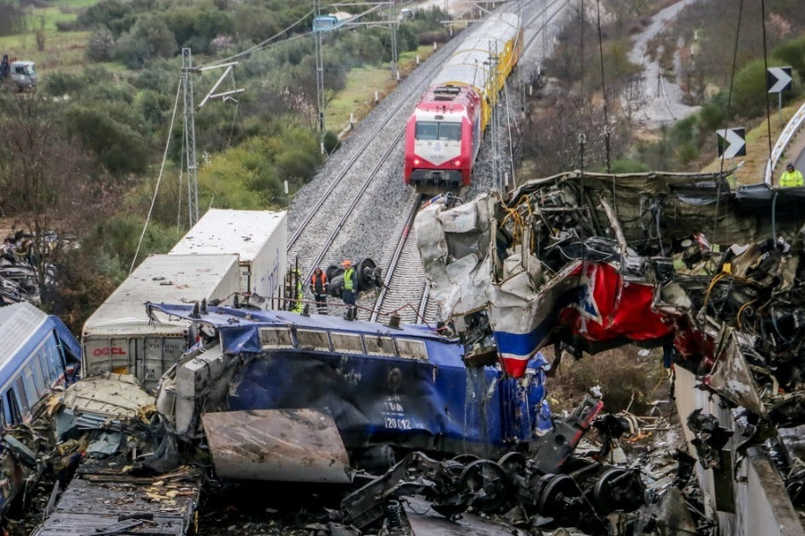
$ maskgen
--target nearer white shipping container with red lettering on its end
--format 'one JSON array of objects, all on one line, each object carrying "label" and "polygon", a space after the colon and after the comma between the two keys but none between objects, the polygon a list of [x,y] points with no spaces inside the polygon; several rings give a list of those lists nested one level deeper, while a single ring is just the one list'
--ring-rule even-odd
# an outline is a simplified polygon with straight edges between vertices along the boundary
[{"label": "nearer white shipping container with red lettering on its end", "polygon": [[150,322],[145,303],[225,300],[240,290],[238,255],[150,255],[84,323],[84,375],[134,374],[146,389],[194,338],[190,322]]}]

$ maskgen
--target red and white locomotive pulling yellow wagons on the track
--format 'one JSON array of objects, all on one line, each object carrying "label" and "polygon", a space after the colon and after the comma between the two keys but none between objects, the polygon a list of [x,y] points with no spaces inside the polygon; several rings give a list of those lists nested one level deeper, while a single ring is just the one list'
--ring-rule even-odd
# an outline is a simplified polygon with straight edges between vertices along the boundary
[{"label": "red and white locomotive pulling yellow wagons on the track", "polygon": [[470,184],[497,94],[521,48],[520,17],[505,13],[473,30],[450,56],[408,120],[406,184],[422,190]]}]

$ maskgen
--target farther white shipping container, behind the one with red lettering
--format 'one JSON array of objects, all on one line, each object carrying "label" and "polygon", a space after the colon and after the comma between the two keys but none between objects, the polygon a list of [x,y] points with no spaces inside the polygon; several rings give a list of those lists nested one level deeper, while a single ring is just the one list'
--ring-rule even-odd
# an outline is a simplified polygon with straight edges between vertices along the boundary
[{"label": "farther white shipping container, behind the one with red lettering", "polygon": [[235,253],[241,292],[282,297],[287,242],[284,212],[211,208],[168,255]]}]

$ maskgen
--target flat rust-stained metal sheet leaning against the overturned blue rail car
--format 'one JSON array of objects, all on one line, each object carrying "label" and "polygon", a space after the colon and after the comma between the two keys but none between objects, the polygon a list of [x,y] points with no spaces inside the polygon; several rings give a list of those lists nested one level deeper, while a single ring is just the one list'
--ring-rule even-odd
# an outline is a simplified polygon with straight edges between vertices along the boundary
[{"label": "flat rust-stained metal sheet leaning against the overturned blue rail car", "polygon": [[235,480],[352,482],[333,417],[310,409],[201,416],[216,474]]}]

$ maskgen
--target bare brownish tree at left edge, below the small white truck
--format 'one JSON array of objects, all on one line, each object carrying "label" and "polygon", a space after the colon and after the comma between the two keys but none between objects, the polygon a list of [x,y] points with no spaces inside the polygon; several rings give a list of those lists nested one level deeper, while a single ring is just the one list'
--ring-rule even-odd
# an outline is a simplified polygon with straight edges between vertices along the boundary
[{"label": "bare brownish tree at left edge, below the small white truck", "polygon": [[113,187],[89,176],[88,157],[65,134],[52,104],[3,94],[0,106],[0,207],[32,234],[38,286],[45,290],[48,266],[65,251],[64,240],[53,236],[80,237],[109,214]]}]

